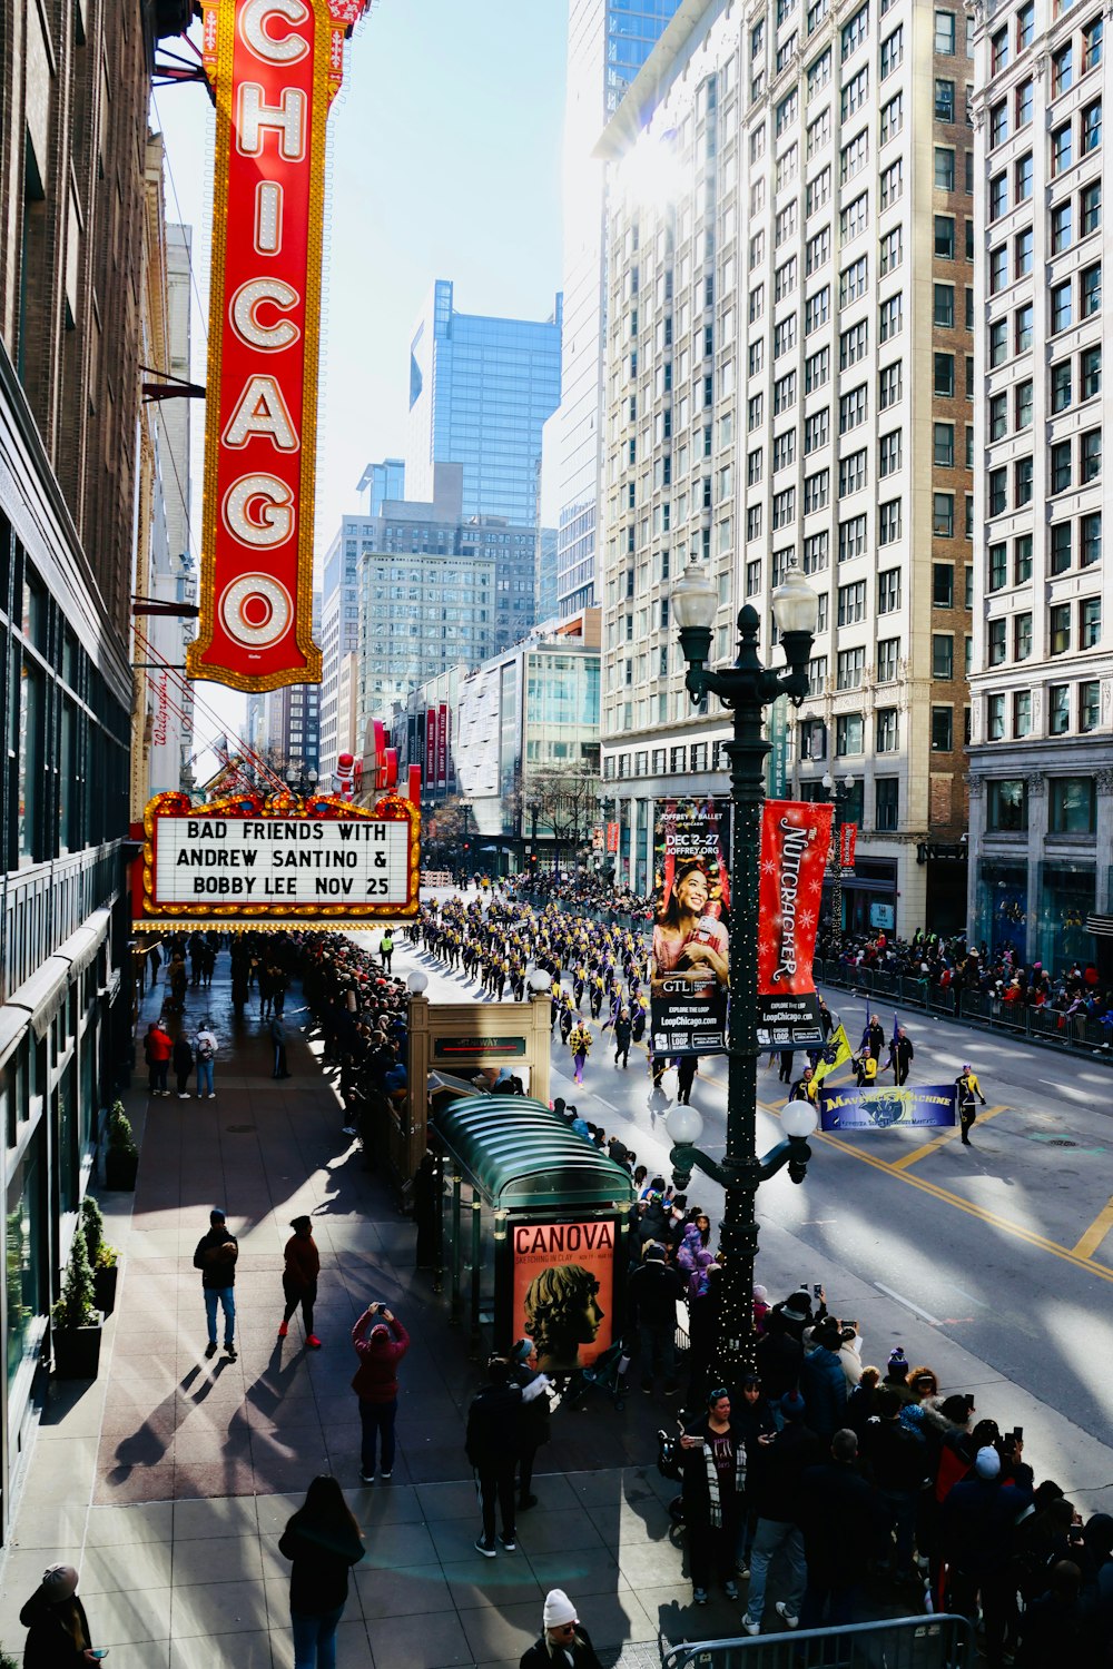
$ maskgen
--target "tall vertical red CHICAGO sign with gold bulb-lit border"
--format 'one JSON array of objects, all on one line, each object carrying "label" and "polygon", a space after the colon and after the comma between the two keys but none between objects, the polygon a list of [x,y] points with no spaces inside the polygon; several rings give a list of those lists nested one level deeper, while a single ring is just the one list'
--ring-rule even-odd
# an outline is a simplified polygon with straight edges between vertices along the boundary
[{"label": "tall vertical red CHICAGO sign with gold bulb-lit border", "polygon": [[190,678],[320,683],[312,641],[325,118],[367,0],[202,0],[217,105]]}]

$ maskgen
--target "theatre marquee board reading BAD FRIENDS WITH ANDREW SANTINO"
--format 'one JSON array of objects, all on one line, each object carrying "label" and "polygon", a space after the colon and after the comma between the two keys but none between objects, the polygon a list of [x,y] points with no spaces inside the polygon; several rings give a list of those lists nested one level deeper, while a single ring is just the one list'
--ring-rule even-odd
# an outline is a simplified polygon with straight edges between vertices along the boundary
[{"label": "theatre marquee board reading BAD FRIENDS WITH ANDREW SANTINO", "polygon": [[359,928],[415,915],[417,876],[417,809],[395,794],[372,811],[334,794],[205,806],[157,794],[144,816],[135,928]]}]

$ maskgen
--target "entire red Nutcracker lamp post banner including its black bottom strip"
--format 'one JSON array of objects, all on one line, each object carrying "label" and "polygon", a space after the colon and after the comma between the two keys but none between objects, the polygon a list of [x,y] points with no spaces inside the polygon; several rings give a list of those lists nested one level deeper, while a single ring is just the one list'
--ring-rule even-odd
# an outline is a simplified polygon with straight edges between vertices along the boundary
[{"label": "entire red Nutcracker lamp post banner including its black bottom strip", "polygon": [[758,1041],[768,1050],[823,1043],[811,975],[831,804],[766,799],[761,818]]}]

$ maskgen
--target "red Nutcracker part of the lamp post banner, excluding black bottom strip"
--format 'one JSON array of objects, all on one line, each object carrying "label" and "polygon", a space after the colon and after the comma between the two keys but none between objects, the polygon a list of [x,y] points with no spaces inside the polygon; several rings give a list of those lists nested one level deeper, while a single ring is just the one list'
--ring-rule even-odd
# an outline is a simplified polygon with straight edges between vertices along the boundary
[{"label": "red Nutcracker part of the lamp post banner, excluding black bottom strip", "polygon": [[831,804],[766,799],[761,818],[758,993],[814,991],[811,963],[831,846]]}]

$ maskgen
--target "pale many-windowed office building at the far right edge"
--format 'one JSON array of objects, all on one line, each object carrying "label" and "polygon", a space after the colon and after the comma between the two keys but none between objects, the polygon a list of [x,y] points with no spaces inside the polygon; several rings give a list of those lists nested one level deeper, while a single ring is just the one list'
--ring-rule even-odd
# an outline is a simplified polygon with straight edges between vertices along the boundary
[{"label": "pale many-windowed office building at the far right edge", "polygon": [[998,0],[976,13],[969,926],[1058,971],[1108,955],[1113,930],[1108,15],[1063,0]]}]

